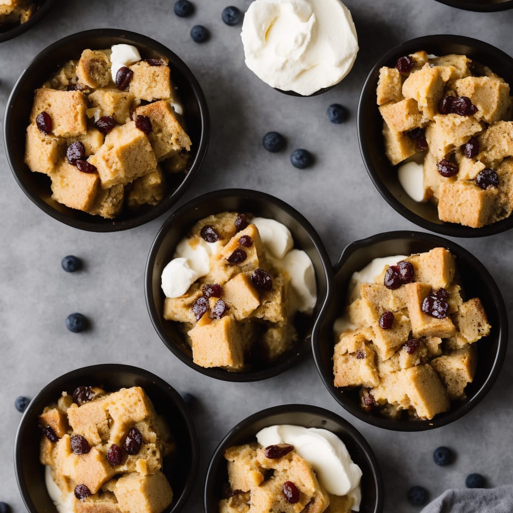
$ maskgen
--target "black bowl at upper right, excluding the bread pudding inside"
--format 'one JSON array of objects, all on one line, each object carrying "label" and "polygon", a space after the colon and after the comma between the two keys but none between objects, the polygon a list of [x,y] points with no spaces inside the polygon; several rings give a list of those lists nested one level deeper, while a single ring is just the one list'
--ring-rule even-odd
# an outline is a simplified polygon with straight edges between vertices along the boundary
[{"label": "black bowl at upper right, excluding the bread pudding inside", "polygon": [[390,206],[412,223],[427,230],[453,237],[481,237],[510,229],[513,227],[513,215],[482,228],[444,223],[438,219],[434,204],[412,200],[399,183],[396,168],[385,155],[381,133],[383,120],[376,105],[376,87],[382,66],[394,67],[398,57],[418,50],[435,55],[465,54],[472,60],[489,66],[513,88],[513,58],[483,41],[459,35],[427,35],[392,48],[370,71],[358,106],[360,151],[372,182]]}]

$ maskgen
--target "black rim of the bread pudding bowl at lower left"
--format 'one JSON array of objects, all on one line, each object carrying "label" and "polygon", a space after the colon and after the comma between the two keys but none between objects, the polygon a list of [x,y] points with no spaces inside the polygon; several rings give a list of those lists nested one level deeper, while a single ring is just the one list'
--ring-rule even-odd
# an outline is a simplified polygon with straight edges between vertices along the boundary
[{"label": "black rim of the bread pudding bowl at lower left", "polygon": [[[74,375],[77,372],[80,372],[81,374],[90,374],[91,376],[94,376],[94,374],[98,371],[109,371],[110,373],[114,374],[116,372],[127,372],[136,374],[137,376],[143,377],[147,379],[148,381],[152,381],[153,384],[157,385],[166,395],[171,395],[173,397],[174,405],[180,410],[182,414],[182,418],[184,420],[184,423],[187,426],[187,430],[190,433],[191,437],[191,455],[190,455],[190,461],[191,461],[191,475],[190,478],[187,480],[187,483],[184,487],[184,490],[179,498],[179,500],[176,501],[174,505],[172,505],[171,509],[166,510],[165,513],[178,513],[185,503],[187,502],[191,492],[192,488],[194,487],[194,484],[196,482],[197,476],[198,476],[198,468],[200,463],[200,441],[198,436],[198,429],[196,428],[196,424],[194,422],[194,419],[190,413],[189,408],[187,407],[187,404],[185,403],[184,399],[180,395],[179,392],[177,392],[169,383],[167,383],[165,380],[163,380],[161,377],[157,376],[156,374],[153,374],[149,370],[142,369],[140,367],[135,367],[133,365],[126,365],[126,364],[120,364],[120,363],[103,363],[103,364],[97,364],[97,365],[88,365],[86,367],[79,367],[77,369],[70,370],[61,376],[57,376],[52,381],[50,381],[48,384],[46,384],[40,391],[38,391],[35,396],[30,401],[29,406],[24,411],[21,420],[19,421],[18,427],[16,429],[16,435],[14,437],[14,473],[16,476],[16,483],[18,485],[19,494],[22,496],[23,502],[25,504],[25,507],[30,513],[39,513],[37,507],[33,503],[32,499],[29,496],[28,487],[26,482],[24,481],[22,474],[23,474],[23,462],[22,462],[22,449],[21,449],[21,443],[20,443],[20,437],[22,436],[22,431],[26,429],[26,424],[28,422],[29,412],[32,411],[32,405],[35,404],[35,402],[38,399],[43,398],[46,396],[46,394],[53,389],[58,383],[69,381],[70,379],[74,378]],[[150,398],[151,399],[151,398]]]}]

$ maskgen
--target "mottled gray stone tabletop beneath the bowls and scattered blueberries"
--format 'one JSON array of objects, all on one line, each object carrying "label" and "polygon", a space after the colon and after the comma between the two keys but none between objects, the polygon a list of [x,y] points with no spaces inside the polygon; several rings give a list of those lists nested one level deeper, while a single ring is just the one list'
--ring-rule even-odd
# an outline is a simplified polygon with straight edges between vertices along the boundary
[{"label": "mottled gray stone tabletop beneath the bowls and scattered blueberries", "polygon": [[[381,198],[364,169],[357,142],[356,111],[368,70],[388,48],[427,33],[459,33],[513,51],[513,11],[477,14],[451,9],[434,0],[346,0],[356,21],[361,50],[350,75],[328,93],[294,98],[273,91],[244,65],[240,27],[221,22],[226,3],[195,0],[196,13],[180,19],[173,0],[56,2],[53,11],[30,32],[0,44],[0,116],[24,66],[56,39],[90,28],[126,28],[147,34],[179,54],[203,85],[212,117],[206,162],[184,201],[217,188],[248,187],[279,196],[297,207],[319,231],[334,261],[346,244],[390,229],[415,229]],[[246,0],[230,0],[245,9]],[[211,40],[198,45],[189,29],[204,24]],[[43,82],[46,77],[41,77]],[[330,103],[351,110],[344,125],[325,116]],[[278,130],[287,151],[270,154],[262,135]],[[315,166],[294,169],[289,153],[310,149]],[[352,422],[379,459],[387,513],[406,513],[405,490],[422,484],[439,495],[464,486],[469,472],[486,476],[490,486],[513,482],[510,465],[513,431],[510,397],[513,361],[508,352],[495,387],[463,419],[427,433],[380,430],[351,418],[325,390],[313,360],[260,383],[234,385],[195,373],[175,359],[149,320],[143,275],[150,244],[165,218],[122,233],[96,234],[60,224],[38,210],[14,181],[0,147],[0,500],[15,513],[25,508],[13,469],[18,395],[33,397],[46,383],[76,367],[122,362],[149,369],[179,391],[199,397],[195,414],[201,433],[201,467],[186,513],[202,510],[204,473],[216,444],[251,413],[272,405],[304,402],[326,407]],[[513,300],[513,242],[510,233],[458,241],[489,268],[504,294]],[[64,255],[80,255],[83,272],[61,269]],[[64,320],[81,311],[93,320],[84,334],[66,330]],[[432,462],[439,445],[455,449],[455,464]]]}]

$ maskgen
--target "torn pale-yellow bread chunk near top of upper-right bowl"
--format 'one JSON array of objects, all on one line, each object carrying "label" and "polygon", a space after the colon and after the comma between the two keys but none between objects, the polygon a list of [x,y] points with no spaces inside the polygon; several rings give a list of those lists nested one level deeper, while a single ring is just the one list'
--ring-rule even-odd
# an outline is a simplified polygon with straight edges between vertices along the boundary
[{"label": "torn pale-yellow bread chunk near top of upper-right bowl", "polygon": [[431,68],[428,63],[424,67],[410,73],[403,83],[403,96],[413,98],[418,103],[424,119],[432,120],[438,112],[438,102],[444,89],[442,73],[437,67]]}]

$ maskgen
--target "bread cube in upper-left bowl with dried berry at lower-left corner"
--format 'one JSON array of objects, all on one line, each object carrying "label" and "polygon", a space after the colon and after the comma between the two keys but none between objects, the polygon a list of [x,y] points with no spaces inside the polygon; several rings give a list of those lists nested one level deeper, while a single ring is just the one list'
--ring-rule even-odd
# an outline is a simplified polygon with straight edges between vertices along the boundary
[{"label": "bread cube in upper-left bowl with dried berry at lower-left corner", "polygon": [[38,114],[47,112],[52,120],[53,135],[81,135],[87,132],[86,109],[86,96],[80,91],[36,89],[30,122],[35,123]]}]

